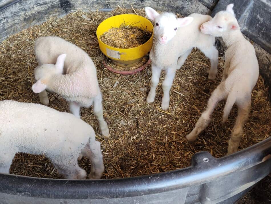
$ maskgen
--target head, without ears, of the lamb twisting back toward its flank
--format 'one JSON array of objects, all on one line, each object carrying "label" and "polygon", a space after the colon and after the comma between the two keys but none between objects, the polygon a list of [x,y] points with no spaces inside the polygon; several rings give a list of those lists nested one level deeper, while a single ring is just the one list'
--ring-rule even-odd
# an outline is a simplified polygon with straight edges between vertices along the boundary
[{"label": "head, without ears, of the lamb twisting back toward its flank", "polygon": [[34,70],[35,80],[50,78],[50,76],[54,74],[62,74],[59,73],[59,70],[56,69],[54,64],[43,64],[41,66],[37,66]]}]

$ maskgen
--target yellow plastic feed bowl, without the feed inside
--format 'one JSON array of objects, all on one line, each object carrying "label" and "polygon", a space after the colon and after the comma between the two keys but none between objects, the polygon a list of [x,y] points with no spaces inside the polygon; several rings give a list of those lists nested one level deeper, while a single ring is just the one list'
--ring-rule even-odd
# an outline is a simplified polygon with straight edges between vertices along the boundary
[{"label": "yellow plastic feed bowl, without the feed inside", "polygon": [[[144,28],[147,27],[147,30],[152,32],[151,38],[143,45],[139,45],[138,47],[129,49],[111,47],[100,40],[100,36],[106,31],[108,31],[108,29],[112,27],[120,27],[120,25],[124,23],[124,21],[128,25],[135,23],[133,26],[141,28],[142,26]],[[153,43],[153,25],[148,19],[142,16],[134,14],[121,14],[112,16],[102,21],[102,23],[100,23],[97,28],[96,35],[98,38],[99,47],[103,54],[105,54],[108,58],[112,60],[112,62],[114,62],[118,66],[130,67],[135,66],[136,64],[141,62],[141,59],[151,50]]]}]

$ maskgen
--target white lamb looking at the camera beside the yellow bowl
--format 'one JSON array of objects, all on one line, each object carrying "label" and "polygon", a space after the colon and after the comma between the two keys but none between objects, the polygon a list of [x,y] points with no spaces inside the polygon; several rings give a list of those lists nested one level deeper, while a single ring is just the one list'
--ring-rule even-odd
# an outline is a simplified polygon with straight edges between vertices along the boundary
[{"label": "white lamb looking at the camera beside the yellow bowl", "polygon": [[147,103],[155,98],[161,70],[165,70],[161,108],[169,108],[169,91],[175,72],[183,66],[193,47],[199,48],[211,60],[208,78],[214,80],[217,74],[218,51],[214,47],[215,37],[201,33],[201,24],[212,19],[209,15],[193,13],[185,18],[176,18],[173,13],[159,14],[145,7],[146,15],[155,22],[155,42],[150,51],[151,89]]}]

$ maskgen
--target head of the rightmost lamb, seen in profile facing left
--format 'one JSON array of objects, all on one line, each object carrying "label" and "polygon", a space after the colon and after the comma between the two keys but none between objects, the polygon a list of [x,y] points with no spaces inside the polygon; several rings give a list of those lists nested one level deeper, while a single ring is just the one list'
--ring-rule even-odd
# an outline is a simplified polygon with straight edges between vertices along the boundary
[{"label": "head of the rightmost lamb, seen in profile facing left", "polygon": [[219,11],[215,17],[201,25],[201,32],[204,34],[221,37],[232,30],[238,30],[238,22],[232,10],[233,4],[227,6],[226,11]]}]

